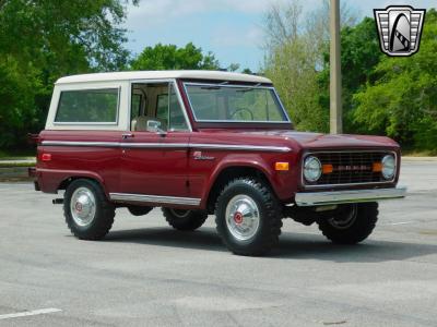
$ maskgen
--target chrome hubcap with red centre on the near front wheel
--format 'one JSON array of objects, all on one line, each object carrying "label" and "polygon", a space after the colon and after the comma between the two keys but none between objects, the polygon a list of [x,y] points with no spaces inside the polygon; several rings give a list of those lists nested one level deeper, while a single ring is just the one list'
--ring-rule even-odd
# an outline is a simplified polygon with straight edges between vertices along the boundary
[{"label": "chrome hubcap with red centre on the near front wheel", "polygon": [[248,195],[236,195],[226,206],[226,226],[231,234],[239,240],[251,239],[258,231],[260,213],[256,202]]}]

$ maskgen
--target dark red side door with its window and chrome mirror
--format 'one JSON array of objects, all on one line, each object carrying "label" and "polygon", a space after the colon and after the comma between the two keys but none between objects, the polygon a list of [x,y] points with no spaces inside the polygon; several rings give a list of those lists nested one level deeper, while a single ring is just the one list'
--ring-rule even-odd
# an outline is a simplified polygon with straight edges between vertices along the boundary
[{"label": "dark red side door with its window and chrome mirror", "polygon": [[122,192],[152,198],[187,196],[189,130],[175,84],[132,84],[132,93],[138,90],[139,116],[132,117],[122,141]]}]

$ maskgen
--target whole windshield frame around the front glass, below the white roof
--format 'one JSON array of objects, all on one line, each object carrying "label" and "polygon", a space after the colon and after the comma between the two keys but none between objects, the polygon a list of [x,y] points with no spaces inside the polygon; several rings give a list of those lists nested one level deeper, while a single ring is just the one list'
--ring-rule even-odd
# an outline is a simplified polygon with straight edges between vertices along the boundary
[{"label": "whole windshield frame around the front glass, below the white roof", "polygon": [[[237,82],[238,83],[238,82]],[[250,125],[269,125],[269,124],[292,124],[292,121],[284,108],[284,105],[281,101],[281,98],[277,95],[276,89],[274,88],[273,85],[265,85],[265,84],[259,84],[259,83],[238,83],[236,84],[235,82],[228,82],[228,81],[217,81],[217,82],[197,82],[197,81],[185,81],[182,82],[182,86],[184,86],[184,92],[185,95],[187,97],[187,101],[189,104],[190,107],[190,111],[192,114],[192,118],[194,120],[196,123],[199,124],[250,124]],[[270,89],[273,92],[273,100],[277,104],[279,109],[280,109],[280,114],[283,116],[284,120],[283,121],[265,121],[265,120],[261,120],[261,121],[257,121],[257,120],[211,120],[211,119],[198,119],[196,117],[196,110],[194,107],[192,106],[191,99],[190,99],[190,95],[189,92],[187,89],[187,86],[205,86],[205,87],[238,87],[238,88],[260,88],[260,89]]]}]

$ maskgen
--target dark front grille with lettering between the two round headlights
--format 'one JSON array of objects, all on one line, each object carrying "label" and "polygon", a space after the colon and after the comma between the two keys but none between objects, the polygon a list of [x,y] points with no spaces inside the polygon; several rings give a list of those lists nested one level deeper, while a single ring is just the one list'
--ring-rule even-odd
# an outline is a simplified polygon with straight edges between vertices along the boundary
[{"label": "dark front grille with lettering between the two round headlights", "polygon": [[381,162],[388,152],[333,152],[308,154],[317,157],[321,165],[332,165],[331,173],[323,173],[314,183],[306,185],[339,185],[363,183],[387,183],[380,171],[374,171],[374,164]]}]

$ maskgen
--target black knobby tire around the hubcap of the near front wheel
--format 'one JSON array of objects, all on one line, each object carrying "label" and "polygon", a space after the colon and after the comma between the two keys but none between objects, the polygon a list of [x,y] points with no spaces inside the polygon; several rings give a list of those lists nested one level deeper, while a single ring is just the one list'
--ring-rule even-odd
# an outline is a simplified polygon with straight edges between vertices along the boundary
[{"label": "black knobby tire around the hubcap of the near front wheel", "polygon": [[[226,222],[226,207],[229,201],[237,195],[249,196],[259,209],[258,230],[248,240],[238,240],[234,237]],[[217,198],[215,216],[218,235],[234,254],[260,256],[267,254],[279,243],[282,210],[276,196],[262,181],[248,177],[229,182]]]}]

